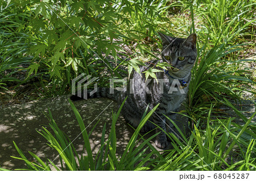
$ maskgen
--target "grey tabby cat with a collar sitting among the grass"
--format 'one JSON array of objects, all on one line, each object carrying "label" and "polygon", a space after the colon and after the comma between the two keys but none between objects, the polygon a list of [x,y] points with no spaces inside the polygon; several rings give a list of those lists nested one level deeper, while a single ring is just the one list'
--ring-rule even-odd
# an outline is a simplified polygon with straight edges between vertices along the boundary
[{"label": "grey tabby cat with a collar sitting among the grass", "polygon": [[[138,127],[147,106],[151,110],[160,103],[150,117],[150,121],[144,124],[142,132],[154,129],[156,124],[164,131],[174,133],[174,125],[166,116],[175,121],[175,112],[177,112],[187,96],[188,85],[191,81],[191,69],[197,57],[196,34],[192,33],[187,39],[167,36],[160,32],[159,36],[162,39],[163,51],[161,53],[162,59],[158,60],[158,62],[170,64],[171,66],[168,67],[168,70],[154,66],[155,60],[150,62],[149,66],[142,66],[140,74],[133,71],[127,86],[122,91],[114,90],[114,94],[110,94],[109,88],[99,87],[97,92],[93,95],[88,95],[88,98],[108,97],[117,100],[121,104],[127,96],[121,113],[127,123],[134,128]],[[162,70],[156,72],[158,82],[154,79],[147,79],[146,81],[145,74],[142,73],[152,66],[154,66],[154,69]],[[81,98],[76,95],[71,96],[71,100],[79,99]],[[156,132],[160,133],[156,136],[155,145],[160,149],[164,149],[167,146],[167,136],[158,127]]]}]

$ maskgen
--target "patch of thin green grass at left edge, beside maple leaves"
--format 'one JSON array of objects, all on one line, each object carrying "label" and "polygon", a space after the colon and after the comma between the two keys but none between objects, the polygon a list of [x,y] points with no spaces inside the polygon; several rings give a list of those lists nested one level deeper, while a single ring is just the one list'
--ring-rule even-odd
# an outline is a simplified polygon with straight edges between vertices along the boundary
[{"label": "patch of thin green grass at left edge, beside maple leaves", "polygon": [[2,89],[6,89],[6,82],[19,82],[19,79],[13,75],[17,71],[24,71],[20,65],[31,62],[31,57],[24,56],[28,51],[29,35],[23,28],[28,19],[30,19],[29,14],[26,13],[17,14],[12,9],[0,11],[0,88]]}]

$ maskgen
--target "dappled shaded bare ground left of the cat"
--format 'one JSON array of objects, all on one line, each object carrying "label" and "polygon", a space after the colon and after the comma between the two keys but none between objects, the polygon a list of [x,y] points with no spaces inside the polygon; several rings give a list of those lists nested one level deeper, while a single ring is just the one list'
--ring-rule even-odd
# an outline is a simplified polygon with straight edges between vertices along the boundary
[{"label": "dappled shaded bare ground left of the cat", "polygon": [[[36,132],[36,130],[40,131],[42,127],[51,130],[47,118],[48,108],[51,110],[53,119],[61,131],[67,134],[71,141],[74,140],[73,144],[76,150],[80,151],[80,153],[82,152],[84,141],[75,114],[69,105],[68,98],[69,95],[63,95],[2,108],[0,111],[0,167],[10,170],[27,168],[24,161],[10,157],[20,157],[13,145],[13,141],[15,141],[30,161],[33,161],[34,158],[31,157],[28,151],[35,153],[43,161],[47,157],[57,166],[60,166],[57,151],[49,148],[47,141]],[[112,124],[112,111],[118,111],[117,103],[108,98],[96,98],[79,100],[74,104],[84,120],[85,127],[88,127],[86,128],[88,133],[100,119],[90,136],[92,151],[96,155],[100,149],[102,129],[105,123],[105,138],[108,138]],[[249,104],[249,109],[246,110],[248,112],[247,117],[251,115],[251,112],[255,111],[251,103]],[[233,111],[230,114],[234,115]],[[179,120],[184,119],[180,117]],[[117,154],[121,155],[134,130],[126,124],[122,116],[119,116],[115,131],[117,134]],[[151,141],[151,144],[154,145],[153,141]]]}]

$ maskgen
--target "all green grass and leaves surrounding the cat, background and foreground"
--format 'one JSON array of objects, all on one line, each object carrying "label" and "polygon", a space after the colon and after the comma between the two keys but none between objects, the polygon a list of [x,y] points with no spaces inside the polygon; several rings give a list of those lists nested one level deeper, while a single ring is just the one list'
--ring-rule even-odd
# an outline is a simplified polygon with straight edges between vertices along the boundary
[{"label": "all green grass and leaves surrounding the cat, background and foreground", "polygon": [[[155,58],[161,46],[157,31],[179,37],[196,32],[198,58],[192,71],[188,103],[185,104],[188,117],[193,123],[191,136],[182,136],[183,140],[179,140],[171,134],[174,149],[160,154],[149,144],[149,139],[135,146],[139,138],[139,127],[123,155],[117,156],[115,123],[119,110],[113,113],[112,129],[106,140],[104,127],[101,148],[94,157],[89,144],[91,132],[88,134],[84,131],[81,116],[71,103],[87,154],[79,155],[75,147],[69,145],[71,141],[57,127],[49,112],[52,131],[44,128],[40,134],[60,154],[61,167],[56,167],[49,159],[43,162],[30,152],[37,161],[32,163],[15,145],[21,157],[18,159],[26,162],[28,170],[255,170],[256,127],[251,121],[255,113],[247,119],[229,102],[230,99],[239,101],[243,91],[251,92],[251,99],[255,99],[255,78],[251,75],[251,69],[244,68],[246,62],[253,61],[246,60],[246,57],[255,55],[252,53],[255,49],[255,2],[153,1],[148,4],[145,1],[127,1],[126,6],[119,6],[119,1],[112,1],[112,5],[108,9],[100,5],[94,9],[93,6],[89,7],[85,16],[83,9],[64,9],[71,6],[68,4],[57,4],[57,8],[49,5],[47,10],[42,5],[39,11],[36,11],[36,2],[19,5],[29,7],[30,11],[14,9],[15,5],[10,4],[0,12],[0,89],[8,89],[10,81],[26,84],[32,77],[37,77],[40,81],[35,86],[40,96],[67,94],[70,92],[71,79],[83,72],[99,77],[99,85],[105,86],[109,78],[127,75],[127,71],[121,68],[128,64],[124,64],[125,61],[117,53],[128,55],[136,61],[139,59],[137,57],[146,60]],[[57,24],[61,22],[49,13],[51,7],[59,9],[64,19],[77,14],[80,18],[84,16],[84,23],[71,23],[69,26],[77,30],[88,45],[82,44],[65,24],[63,28]],[[105,11],[113,11],[113,16],[102,16]],[[49,21],[51,18],[52,22]],[[56,31],[58,37],[49,36],[47,33],[51,31],[46,27]],[[104,53],[114,58],[105,58]],[[133,66],[128,70],[137,68],[139,63],[134,62],[131,61],[129,65]],[[29,68],[24,69],[20,65]],[[27,75],[30,75],[23,82],[14,77],[21,70],[26,70]],[[212,113],[218,112],[220,104],[232,108],[243,120],[243,124],[237,124],[233,117],[212,116]],[[148,116],[144,115],[143,123]],[[146,154],[147,150],[151,150],[150,154]]]}]

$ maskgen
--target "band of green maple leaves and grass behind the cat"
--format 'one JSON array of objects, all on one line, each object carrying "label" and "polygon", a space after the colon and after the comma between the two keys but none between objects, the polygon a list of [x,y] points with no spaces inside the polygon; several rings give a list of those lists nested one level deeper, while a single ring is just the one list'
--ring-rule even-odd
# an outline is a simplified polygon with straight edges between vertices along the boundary
[{"label": "band of green maple leaves and grass behind the cat", "polygon": [[[41,92],[47,96],[65,94],[71,87],[71,79],[84,72],[100,77],[99,85],[105,86],[109,78],[122,78],[123,73],[127,74],[122,66],[127,66],[129,75],[133,69],[138,71],[144,61],[159,57],[154,51],[160,45],[157,31],[172,36],[197,32],[198,47],[204,50],[200,53],[206,53],[205,49],[212,49],[213,44],[225,44],[222,46],[225,49],[226,45],[235,45],[233,40],[237,37],[251,35],[250,31],[253,33],[254,30],[251,24],[255,21],[251,1],[2,2],[2,21],[10,22],[10,26],[0,28],[4,32],[1,59],[7,65],[0,69],[0,74],[3,75],[8,66],[15,68],[10,58],[20,64],[26,62],[27,79],[24,82],[31,75],[39,77],[39,87],[50,87]],[[179,11],[175,14],[172,9]],[[181,22],[177,17],[187,12],[191,18],[185,15],[189,22],[184,24],[192,26],[175,24]],[[14,48],[12,51],[16,53],[12,53],[7,47],[21,50]],[[120,55],[127,58],[123,60]],[[155,71],[145,73],[155,78]],[[11,80],[11,75],[2,82]]]}]

